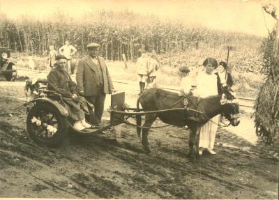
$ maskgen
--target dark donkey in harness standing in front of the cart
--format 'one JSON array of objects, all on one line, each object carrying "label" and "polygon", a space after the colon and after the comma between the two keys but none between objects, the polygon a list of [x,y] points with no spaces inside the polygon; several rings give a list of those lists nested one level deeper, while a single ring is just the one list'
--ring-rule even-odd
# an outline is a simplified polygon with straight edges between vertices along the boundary
[{"label": "dark donkey in harness standing in front of the cart", "polygon": [[146,153],[150,153],[148,134],[152,123],[156,118],[170,125],[184,127],[188,125],[190,129],[189,153],[191,158],[197,155],[199,147],[199,130],[208,122],[210,118],[218,114],[223,114],[232,125],[239,125],[239,103],[236,98],[229,93],[214,95],[208,98],[197,98],[193,95],[181,97],[177,93],[165,91],[163,89],[148,89],[140,95],[137,100],[137,109],[140,105],[144,111],[158,111],[160,109],[184,108],[185,100],[188,101],[187,109],[176,111],[165,111],[156,114],[146,114],[145,122],[142,125],[141,116],[136,116],[137,134],[140,137],[142,132],[142,144]]}]

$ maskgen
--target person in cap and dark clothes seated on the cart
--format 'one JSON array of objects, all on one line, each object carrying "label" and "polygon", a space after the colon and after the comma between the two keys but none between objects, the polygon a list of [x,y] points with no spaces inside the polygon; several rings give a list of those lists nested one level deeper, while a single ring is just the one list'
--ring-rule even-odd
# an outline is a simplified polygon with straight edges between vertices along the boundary
[{"label": "person in cap and dark clothes seated on the cart", "polygon": [[61,94],[64,105],[68,110],[68,116],[74,121],[73,128],[84,130],[91,128],[86,123],[84,111],[89,112],[86,100],[77,93],[77,85],[68,75],[67,59],[63,55],[56,56],[56,68],[47,75],[47,89]]}]

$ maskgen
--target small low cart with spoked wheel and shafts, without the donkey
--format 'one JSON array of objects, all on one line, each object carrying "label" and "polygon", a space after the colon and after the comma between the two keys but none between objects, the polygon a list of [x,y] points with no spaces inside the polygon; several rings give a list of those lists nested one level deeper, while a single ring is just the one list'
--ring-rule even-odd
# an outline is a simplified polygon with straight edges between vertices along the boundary
[{"label": "small low cart with spoked wheel and shafts, without the donkey", "polygon": [[[38,89],[37,98],[24,103],[27,107],[27,131],[33,141],[48,146],[57,146],[66,138],[68,132],[84,136],[96,134],[110,129],[114,125],[128,123],[127,117],[142,116],[149,113],[157,113],[172,110],[184,110],[183,108],[166,109],[160,111],[142,111],[138,108],[126,110],[125,93],[111,95],[110,121],[101,128],[89,128],[76,130],[73,122],[68,118],[68,111],[63,106],[63,99],[59,93],[49,91],[46,88]],[[92,109],[89,106],[89,110]],[[90,121],[91,113],[85,113],[86,121]]]}]

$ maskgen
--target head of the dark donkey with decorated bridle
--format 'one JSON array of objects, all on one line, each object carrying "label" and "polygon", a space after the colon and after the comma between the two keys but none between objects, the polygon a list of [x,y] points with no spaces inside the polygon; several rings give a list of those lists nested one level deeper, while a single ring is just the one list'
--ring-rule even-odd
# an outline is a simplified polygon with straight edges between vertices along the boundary
[{"label": "head of the dark donkey with decorated bridle", "polygon": [[239,101],[235,98],[235,95],[233,93],[223,94],[220,104],[223,105],[221,114],[223,114],[233,126],[239,125]]}]

